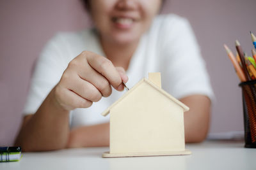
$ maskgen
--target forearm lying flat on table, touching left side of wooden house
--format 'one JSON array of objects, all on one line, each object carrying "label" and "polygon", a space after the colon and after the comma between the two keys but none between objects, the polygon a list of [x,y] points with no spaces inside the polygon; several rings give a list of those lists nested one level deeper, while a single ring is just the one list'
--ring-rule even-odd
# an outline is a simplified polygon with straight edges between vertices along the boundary
[{"label": "forearm lying flat on table, touching left side of wooden house", "polygon": [[109,123],[72,129],[67,148],[109,146]]}]

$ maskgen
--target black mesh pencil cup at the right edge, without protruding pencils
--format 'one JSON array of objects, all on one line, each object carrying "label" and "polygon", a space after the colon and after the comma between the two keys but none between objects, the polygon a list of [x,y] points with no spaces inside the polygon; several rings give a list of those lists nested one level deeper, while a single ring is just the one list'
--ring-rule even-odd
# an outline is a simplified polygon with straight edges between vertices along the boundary
[{"label": "black mesh pencil cup at the right edge, without protruding pencils", "polygon": [[256,80],[239,84],[243,95],[245,148],[256,148]]}]

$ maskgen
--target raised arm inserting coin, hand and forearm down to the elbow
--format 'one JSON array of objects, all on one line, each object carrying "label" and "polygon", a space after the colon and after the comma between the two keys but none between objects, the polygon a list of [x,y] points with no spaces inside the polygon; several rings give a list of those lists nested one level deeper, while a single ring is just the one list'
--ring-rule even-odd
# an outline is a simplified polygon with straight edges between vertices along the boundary
[{"label": "raised arm inserting coin, hand and forearm down to the elbow", "polygon": [[[88,108],[102,96],[109,96],[111,86],[116,90],[123,90],[122,81],[127,80],[122,67],[114,67],[110,60],[93,52],[82,52],[68,64],[60,82],[51,90],[36,113],[24,118],[16,145],[22,146],[24,151],[67,147],[70,136],[74,136],[70,133],[69,111]],[[92,128],[100,131],[103,127]]]}]

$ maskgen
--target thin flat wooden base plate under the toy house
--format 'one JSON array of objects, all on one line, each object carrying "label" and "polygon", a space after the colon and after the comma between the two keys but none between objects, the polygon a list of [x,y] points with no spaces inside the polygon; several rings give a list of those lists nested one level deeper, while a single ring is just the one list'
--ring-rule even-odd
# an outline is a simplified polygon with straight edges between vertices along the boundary
[{"label": "thin flat wooden base plate under the toy house", "polygon": [[154,156],[170,156],[170,155],[191,155],[189,150],[177,151],[177,152],[148,152],[148,153],[102,153],[103,158],[115,158],[115,157],[154,157]]}]

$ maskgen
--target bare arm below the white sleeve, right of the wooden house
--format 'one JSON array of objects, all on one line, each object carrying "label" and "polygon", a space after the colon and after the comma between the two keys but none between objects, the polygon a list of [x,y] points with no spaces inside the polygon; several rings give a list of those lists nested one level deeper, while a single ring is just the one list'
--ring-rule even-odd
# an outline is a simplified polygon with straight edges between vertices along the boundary
[{"label": "bare arm below the white sleeve, right of the wooden house", "polygon": [[189,106],[189,111],[184,113],[186,143],[203,141],[209,130],[211,101],[201,95],[184,97],[180,101]]}]

